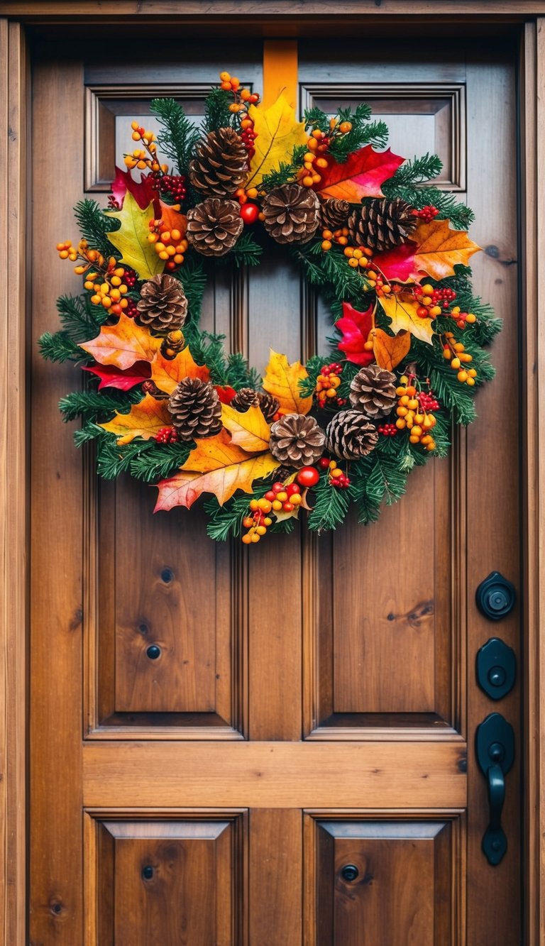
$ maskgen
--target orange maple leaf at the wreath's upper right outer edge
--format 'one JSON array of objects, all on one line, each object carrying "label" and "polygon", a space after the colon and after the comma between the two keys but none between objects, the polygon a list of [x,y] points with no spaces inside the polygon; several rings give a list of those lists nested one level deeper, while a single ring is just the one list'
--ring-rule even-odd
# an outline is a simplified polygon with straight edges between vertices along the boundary
[{"label": "orange maple leaf at the wreath's upper right outer edge", "polygon": [[409,237],[416,243],[414,262],[432,279],[454,275],[454,266],[467,266],[469,256],[481,249],[469,239],[465,230],[451,230],[448,220],[420,223]]}]

